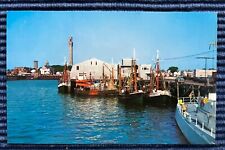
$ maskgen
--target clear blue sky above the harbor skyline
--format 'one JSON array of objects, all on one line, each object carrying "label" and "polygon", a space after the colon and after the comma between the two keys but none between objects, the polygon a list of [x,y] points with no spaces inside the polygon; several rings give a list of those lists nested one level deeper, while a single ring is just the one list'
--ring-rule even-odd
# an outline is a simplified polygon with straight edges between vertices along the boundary
[{"label": "clear blue sky above the harbor skyline", "polygon": [[[63,65],[68,58],[68,37],[74,40],[74,63],[95,57],[107,62],[131,58],[139,64],[209,51],[216,41],[217,16],[207,12],[127,11],[9,11],[7,14],[7,68]],[[208,53],[201,56],[213,56]],[[208,67],[216,67],[216,60]],[[196,57],[161,61],[161,68],[204,68]]]}]

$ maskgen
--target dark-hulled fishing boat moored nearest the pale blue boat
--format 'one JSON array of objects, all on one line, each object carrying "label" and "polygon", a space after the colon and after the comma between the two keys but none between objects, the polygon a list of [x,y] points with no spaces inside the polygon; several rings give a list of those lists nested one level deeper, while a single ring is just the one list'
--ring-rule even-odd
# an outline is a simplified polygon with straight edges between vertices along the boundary
[{"label": "dark-hulled fishing boat moored nearest the pale blue boat", "polygon": [[144,101],[145,103],[149,103],[155,106],[168,106],[171,104],[173,105],[176,104],[176,101],[171,98],[171,93],[169,90],[166,90],[165,84],[162,85],[162,83],[164,83],[164,80],[160,72],[158,53],[159,51],[157,50],[155,75],[152,68],[150,68],[149,91],[145,94]]}]

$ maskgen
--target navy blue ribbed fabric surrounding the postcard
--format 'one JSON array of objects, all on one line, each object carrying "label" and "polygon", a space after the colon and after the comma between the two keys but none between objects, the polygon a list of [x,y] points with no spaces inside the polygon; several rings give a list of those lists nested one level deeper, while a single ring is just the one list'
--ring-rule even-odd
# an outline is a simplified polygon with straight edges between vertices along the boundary
[{"label": "navy blue ribbed fabric surrounding the postcard", "polygon": [[[7,144],[6,18],[10,10],[137,10],[217,12],[216,145],[17,145]],[[225,149],[225,1],[224,0],[0,0],[0,149]],[[47,138],[47,137],[46,137]]]}]

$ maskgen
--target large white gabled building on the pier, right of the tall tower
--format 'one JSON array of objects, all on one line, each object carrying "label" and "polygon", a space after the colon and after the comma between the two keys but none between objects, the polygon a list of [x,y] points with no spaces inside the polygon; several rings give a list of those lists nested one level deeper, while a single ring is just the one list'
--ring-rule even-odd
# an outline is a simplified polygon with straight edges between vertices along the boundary
[{"label": "large white gabled building on the pier, right of the tall tower", "polygon": [[109,64],[96,58],[74,64],[70,72],[70,78],[78,80],[102,79],[103,68],[105,78],[110,78],[112,68],[114,69],[114,79],[117,78],[117,65]]}]

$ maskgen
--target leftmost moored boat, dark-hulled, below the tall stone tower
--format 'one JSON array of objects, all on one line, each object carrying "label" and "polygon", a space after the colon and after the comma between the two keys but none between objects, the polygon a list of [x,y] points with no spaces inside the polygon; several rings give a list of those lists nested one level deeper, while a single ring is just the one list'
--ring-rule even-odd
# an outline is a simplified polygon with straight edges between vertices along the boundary
[{"label": "leftmost moored boat, dark-hulled, below the tall stone tower", "polygon": [[70,80],[69,80],[69,70],[67,67],[67,63],[64,65],[62,78],[59,80],[58,91],[60,93],[69,93],[70,92]]}]

